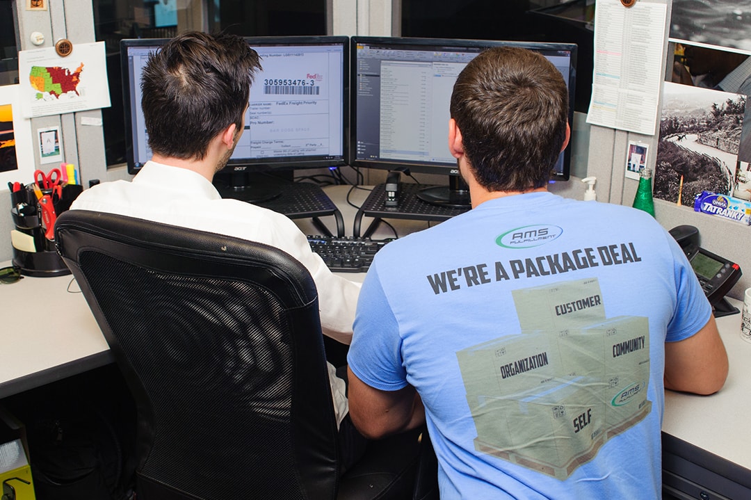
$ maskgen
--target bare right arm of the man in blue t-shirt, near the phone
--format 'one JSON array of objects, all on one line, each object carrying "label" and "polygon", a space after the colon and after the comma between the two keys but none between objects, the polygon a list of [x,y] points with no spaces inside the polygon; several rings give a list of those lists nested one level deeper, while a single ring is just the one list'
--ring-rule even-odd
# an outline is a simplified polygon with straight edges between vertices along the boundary
[{"label": "bare right arm of the man in blue t-shirt, near the phone", "polygon": [[728,377],[728,353],[714,316],[694,336],[665,342],[665,388],[686,393],[716,393]]}]

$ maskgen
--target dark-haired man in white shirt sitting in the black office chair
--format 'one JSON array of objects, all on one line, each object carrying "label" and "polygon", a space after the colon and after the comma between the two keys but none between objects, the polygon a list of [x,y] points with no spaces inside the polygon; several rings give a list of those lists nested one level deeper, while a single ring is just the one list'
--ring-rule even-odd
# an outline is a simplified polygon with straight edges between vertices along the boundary
[{"label": "dark-haired man in white shirt sitting in the black office chair", "polygon": [[[324,334],[348,345],[360,284],[333,275],[285,215],[222,199],[212,184],[243,133],[252,78],[260,69],[258,53],[239,36],[191,32],[167,42],[149,56],[141,83],[151,160],[132,182],[95,185],[71,209],[129,215],[280,248],[315,281]],[[345,382],[331,365],[329,378],[340,433],[348,433]],[[351,451],[351,460],[359,453]]]}]

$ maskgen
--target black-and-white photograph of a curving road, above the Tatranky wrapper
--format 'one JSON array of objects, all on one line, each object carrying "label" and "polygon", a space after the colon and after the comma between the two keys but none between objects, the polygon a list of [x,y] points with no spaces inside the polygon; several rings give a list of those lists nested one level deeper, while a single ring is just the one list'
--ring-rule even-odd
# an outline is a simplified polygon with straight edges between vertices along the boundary
[{"label": "black-and-white photograph of a curving road, above the Tatranky wrapper", "polygon": [[653,195],[692,206],[731,194],[746,96],[665,82]]}]

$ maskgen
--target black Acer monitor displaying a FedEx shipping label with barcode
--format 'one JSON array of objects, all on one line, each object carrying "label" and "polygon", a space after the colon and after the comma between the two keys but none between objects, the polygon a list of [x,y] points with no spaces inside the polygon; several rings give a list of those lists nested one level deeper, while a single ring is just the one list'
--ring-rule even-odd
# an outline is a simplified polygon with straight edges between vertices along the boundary
[{"label": "black Acer monitor displaying a FedEx shipping label with barcode", "polygon": [[[222,196],[263,201],[278,196],[282,188],[258,182],[265,177],[253,174],[347,164],[349,39],[288,36],[246,40],[261,56],[263,71],[255,74],[250,89],[245,131],[217,178],[227,178],[226,185],[220,186]],[[126,158],[131,174],[151,157],[140,107],[141,74],[149,53],[166,41],[121,41]]]}]

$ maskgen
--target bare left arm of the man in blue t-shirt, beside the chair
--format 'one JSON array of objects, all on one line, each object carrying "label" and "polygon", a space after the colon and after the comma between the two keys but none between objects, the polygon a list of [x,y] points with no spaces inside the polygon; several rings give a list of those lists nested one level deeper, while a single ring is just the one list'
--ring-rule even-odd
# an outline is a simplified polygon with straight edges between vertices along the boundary
[{"label": "bare left arm of the man in blue t-shirt, beside the chair", "polygon": [[425,408],[414,387],[379,390],[348,372],[349,416],[369,439],[414,429],[425,422]]}]

